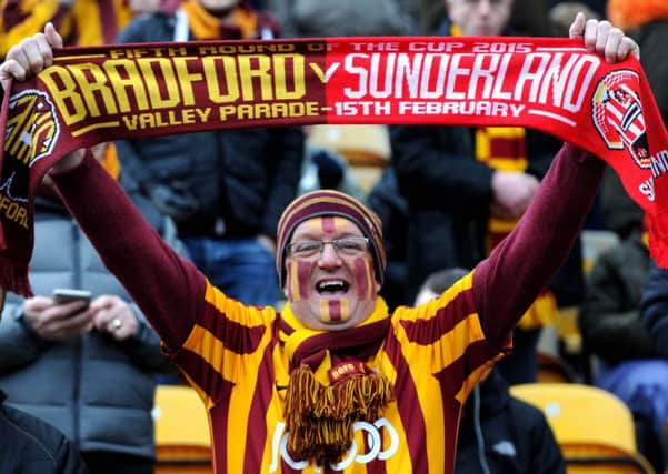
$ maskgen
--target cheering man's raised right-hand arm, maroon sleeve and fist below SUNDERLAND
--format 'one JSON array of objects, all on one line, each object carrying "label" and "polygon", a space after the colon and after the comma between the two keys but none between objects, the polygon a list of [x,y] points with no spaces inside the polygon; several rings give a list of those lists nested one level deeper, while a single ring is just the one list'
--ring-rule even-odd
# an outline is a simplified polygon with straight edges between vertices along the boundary
[{"label": "cheering man's raised right-hand arm, maroon sleeve and fist below SUNDERLAND", "polygon": [[[571,38],[608,62],[639,57],[638,46],[607,21],[578,13]],[[605,163],[570,144],[558,153],[517,228],[473,276],[476,305],[487,337],[500,346],[561,265],[598,191]]]}]

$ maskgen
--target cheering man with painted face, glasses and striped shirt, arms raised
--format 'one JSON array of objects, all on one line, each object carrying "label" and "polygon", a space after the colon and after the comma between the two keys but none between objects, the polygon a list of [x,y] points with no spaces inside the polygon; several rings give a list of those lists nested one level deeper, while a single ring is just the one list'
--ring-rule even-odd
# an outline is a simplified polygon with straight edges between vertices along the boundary
[{"label": "cheering man with painted face, glasses and striped shirt, arms raised", "polygon": [[[571,36],[611,61],[638,54],[607,22],[578,16]],[[10,51],[0,80],[49,65],[60,44],[48,26]],[[315,191],[281,215],[277,270],[288,304],[277,313],[228,299],[167,249],[84,150],[51,177],[201,395],[216,472],[403,474],[452,472],[461,406],[568,253],[602,170],[565,145],[488,259],[439,299],[392,315],[377,296],[380,223],[345,194]]]}]

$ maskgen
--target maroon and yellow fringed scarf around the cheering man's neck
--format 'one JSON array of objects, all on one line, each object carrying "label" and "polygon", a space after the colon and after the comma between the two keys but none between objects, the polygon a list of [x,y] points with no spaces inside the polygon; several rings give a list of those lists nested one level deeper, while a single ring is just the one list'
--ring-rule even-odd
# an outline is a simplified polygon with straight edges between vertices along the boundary
[{"label": "maroon and yellow fringed scarf around the cheering man's neck", "polygon": [[290,360],[285,416],[293,458],[337,463],[352,443],[352,424],[375,422],[393,400],[389,380],[365,363],[389,325],[380,297],[368,320],[345,331],[309,330],[286,306],[279,339]]}]

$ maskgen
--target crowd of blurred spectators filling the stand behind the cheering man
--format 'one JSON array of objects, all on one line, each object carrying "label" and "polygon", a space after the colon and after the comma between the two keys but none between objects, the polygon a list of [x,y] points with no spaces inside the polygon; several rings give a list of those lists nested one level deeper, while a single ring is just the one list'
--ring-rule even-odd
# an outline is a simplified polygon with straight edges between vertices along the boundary
[{"label": "crowd of blurred spectators filling the stand behind the cheering man", "polygon": [[[585,11],[609,19],[640,44],[641,64],[668,123],[662,0],[1,0],[0,6],[0,58],[47,21],[67,46],[88,46],[551,37],[564,36],[575,12]],[[247,304],[283,303],[273,266],[276,230],[295,196],[337,189],[363,200],[383,222],[388,270],[381,295],[397,307],[421,301],[426,288],[439,294],[462,269],[487,256],[521,218],[559,148],[554,138],[522,128],[343,129],[255,128],[123,140],[104,143],[97,154],[163,239]],[[371,152],[355,139],[369,130]],[[8,294],[0,321],[6,405],[59,428],[92,473],[152,472],[154,387],[181,381],[48,182],[38,201],[30,278],[37,296]],[[89,290],[93,297],[88,306],[59,305],[51,297],[56,288]],[[656,472],[668,470],[668,271],[652,264],[642,212],[611,170],[568,261],[516,327],[512,354],[471,395],[482,412],[465,407],[460,472],[564,472],[559,453],[546,451],[558,446],[541,414],[508,394],[508,385],[539,383],[546,357],[566,383],[598,386],[624,401],[640,453]],[[518,441],[517,456],[532,462],[509,467],[499,461],[502,453],[490,451],[490,468],[473,447],[479,426],[468,424],[480,413],[490,420],[481,424],[482,436],[540,430],[547,440],[538,443],[542,451]]]}]

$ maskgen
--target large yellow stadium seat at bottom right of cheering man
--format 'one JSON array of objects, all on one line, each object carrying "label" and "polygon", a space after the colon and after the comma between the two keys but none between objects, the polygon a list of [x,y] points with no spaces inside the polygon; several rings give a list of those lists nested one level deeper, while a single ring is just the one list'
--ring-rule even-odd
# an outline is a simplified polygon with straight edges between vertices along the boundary
[{"label": "large yellow stadium seat at bottom right of cheering man", "polygon": [[637,451],[631,412],[615,395],[572,383],[521,384],[510,392],[542,410],[567,474],[654,474]]}]

